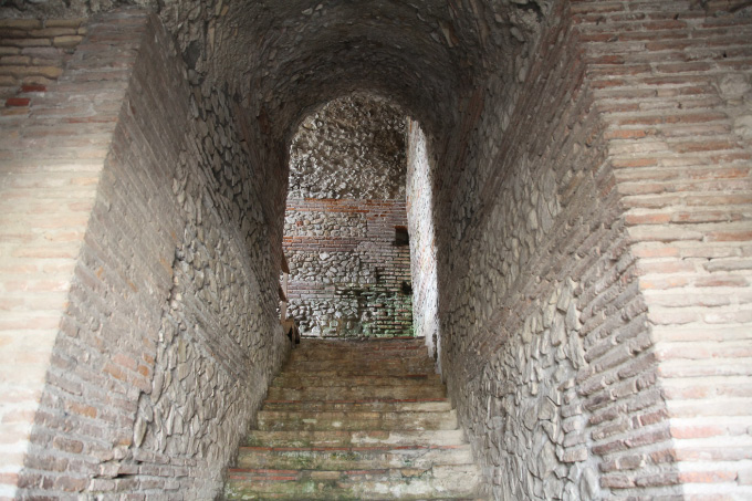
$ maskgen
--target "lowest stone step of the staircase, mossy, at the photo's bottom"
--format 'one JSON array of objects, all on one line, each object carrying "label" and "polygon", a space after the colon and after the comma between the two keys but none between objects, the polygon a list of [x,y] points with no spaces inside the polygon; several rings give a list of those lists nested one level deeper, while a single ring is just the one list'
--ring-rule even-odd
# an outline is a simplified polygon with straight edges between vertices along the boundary
[{"label": "lowest stone step of the staircase, mossy, at the photo's bottom", "polygon": [[228,500],[462,499],[474,494],[479,476],[472,465],[377,470],[231,469],[224,497]]}]

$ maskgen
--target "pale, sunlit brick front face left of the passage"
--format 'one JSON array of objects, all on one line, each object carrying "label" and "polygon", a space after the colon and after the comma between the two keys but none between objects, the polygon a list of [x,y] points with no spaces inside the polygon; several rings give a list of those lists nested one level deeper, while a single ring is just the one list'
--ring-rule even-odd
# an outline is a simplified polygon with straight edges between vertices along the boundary
[{"label": "pale, sunlit brick front face left of the passage", "polygon": [[[3,46],[19,49],[22,58],[32,58],[30,66],[34,56],[29,53],[31,49],[22,46],[52,43],[49,32],[41,38],[34,35],[35,30],[41,30],[40,21],[3,23],[3,32],[17,35],[10,42],[10,36],[3,36]],[[31,30],[29,38],[21,36],[25,31],[17,28],[19,24]],[[46,23],[51,24],[54,22]],[[0,497],[13,495],[25,451],[34,439],[32,424],[54,359],[55,340],[65,325],[76,260],[134,64],[137,45],[134,39],[143,33],[142,24],[139,20],[115,18],[106,27],[90,25],[87,41],[80,45],[67,66],[67,54],[45,52],[45,58],[54,59],[44,63],[45,80],[14,80],[13,88],[18,83],[34,87],[21,88],[18,98],[23,100],[23,106],[11,101],[2,109]],[[114,41],[123,41],[116,61],[113,56],[104,58]],[[103,55],[97,63],[100,71],[83,54]],[[27,77],[34,71],[29,71]],[[14,79],[23,73],[13,72]],[[61,74],[58,82],[52,80]],[[94,80],[95,88],[91,84]],[[9,97],[13,98],[17,97]],[[74,406],[69,410],[75,415],[90,409]],[[80,442],[61,437],[50,449],[65,453],[79,446]]]}]

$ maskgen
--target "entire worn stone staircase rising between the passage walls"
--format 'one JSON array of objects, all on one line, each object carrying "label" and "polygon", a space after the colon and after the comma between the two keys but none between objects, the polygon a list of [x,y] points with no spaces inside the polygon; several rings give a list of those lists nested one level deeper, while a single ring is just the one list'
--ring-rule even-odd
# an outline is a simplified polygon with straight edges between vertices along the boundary
[{"label": "entire worn stone staircase rising between the passage walls", "polygon": [[224,499],[477,499],[479,469],[422,340],[303,340]]}]

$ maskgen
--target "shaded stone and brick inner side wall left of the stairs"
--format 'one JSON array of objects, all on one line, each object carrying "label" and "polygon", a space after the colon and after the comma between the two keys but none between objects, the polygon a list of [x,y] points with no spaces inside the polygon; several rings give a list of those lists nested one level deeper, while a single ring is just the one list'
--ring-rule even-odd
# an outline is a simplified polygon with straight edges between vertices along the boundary
[{"label": "shaded stone and brick inner side wall left of the stairs", "polygon": [[85,178],[91,215],[71,234],[80,247],[17,495],[210,499],[288,347],[268,293],[278,273],[261,177],[231,101],[188,86],[157,18],[124,11],[88,29],[60,84],[98,103],[114,73],[119,96],[81,119],[114,131]]}]

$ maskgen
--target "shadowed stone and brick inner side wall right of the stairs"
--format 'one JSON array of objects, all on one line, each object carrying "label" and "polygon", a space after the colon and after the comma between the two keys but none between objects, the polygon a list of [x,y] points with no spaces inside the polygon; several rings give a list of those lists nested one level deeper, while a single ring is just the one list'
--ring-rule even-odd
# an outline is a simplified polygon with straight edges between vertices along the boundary
[{"label": "shadowed stone and brick inner side wall right of the stairs", "polygon": [[493,499],[609,495],[603,414],[662,404],[577,33],[563,6],[549,15],[524,87],[472,97],[469,168],[437,195],[441,366]]}]

